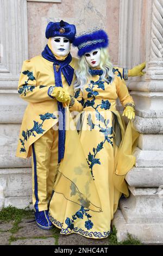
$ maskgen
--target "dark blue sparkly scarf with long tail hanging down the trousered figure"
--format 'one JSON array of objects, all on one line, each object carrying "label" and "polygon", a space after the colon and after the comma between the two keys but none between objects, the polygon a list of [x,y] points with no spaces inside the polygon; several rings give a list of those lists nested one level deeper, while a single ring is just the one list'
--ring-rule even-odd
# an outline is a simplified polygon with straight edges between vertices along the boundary
[{"label": "dark blue sparkly scarf with long tail hanging down the trousered figure", "polygon": [[[54,57],[54,54],[48,47],[45,46],[45,49],[42,52],[42,57],[53,62],[53,69],[54,69],[54,78],[55,78],[55,86],[63,87],[62,86],[62,79],[61,79],[61,72],[64,75],[67,83],[71,86],[73,80],[74,69],[72,66],[68,65],[71,60],[72,56],[69,53],[65,60],[57,60]],[[58,101],[58,113],[59,113],[59,131],[58,131],[58,163],[60,163],[61,159],[64,158],[65,153],[65,138],[66,138],[66,131],[65,131],[65,108],[62,106],[62,103]]]}]

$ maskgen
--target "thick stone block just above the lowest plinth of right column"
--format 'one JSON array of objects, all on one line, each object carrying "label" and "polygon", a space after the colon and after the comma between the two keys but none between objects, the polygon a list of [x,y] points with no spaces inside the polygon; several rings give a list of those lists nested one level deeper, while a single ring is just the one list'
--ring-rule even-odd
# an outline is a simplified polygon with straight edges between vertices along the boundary
[{"label": "thick stone block just above the lowest plinth of right column", "polygon": [[120,209],[127,223],[163,223],[161,187],[130,187],[129,198],[121,198]]}]

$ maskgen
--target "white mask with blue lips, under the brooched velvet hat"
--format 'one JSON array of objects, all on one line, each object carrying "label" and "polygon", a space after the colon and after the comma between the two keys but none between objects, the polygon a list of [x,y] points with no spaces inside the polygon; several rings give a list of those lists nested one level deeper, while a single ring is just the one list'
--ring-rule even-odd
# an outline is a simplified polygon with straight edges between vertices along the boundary
[{"label": "white mask with blue lips, under the brooched velvet hat", "polygon": [[64,57],[70,52],[70,40],[64,36],[53,36],[51,38],[51,45],[54,54]]}]

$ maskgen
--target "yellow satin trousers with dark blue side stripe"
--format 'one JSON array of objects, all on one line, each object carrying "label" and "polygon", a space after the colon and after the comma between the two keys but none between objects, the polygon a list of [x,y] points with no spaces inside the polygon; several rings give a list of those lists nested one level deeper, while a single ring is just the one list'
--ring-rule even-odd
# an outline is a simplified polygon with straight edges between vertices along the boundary
[{"label": "yellow satin trousers with dark blue side stripe", "polygon": [[57,177],[58,131],[53,127],[32,144],[32,190],[35,211],[48,210]]}]

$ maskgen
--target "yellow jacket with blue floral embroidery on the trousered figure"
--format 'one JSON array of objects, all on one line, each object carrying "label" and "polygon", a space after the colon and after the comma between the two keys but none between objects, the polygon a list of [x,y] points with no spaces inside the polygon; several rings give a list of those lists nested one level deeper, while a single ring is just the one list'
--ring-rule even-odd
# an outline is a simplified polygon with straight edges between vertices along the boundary
[{"label": "yellow jacket with blue floral embroidery on the trousered figure", "polygon": [[[69,65],[73,69],[77,69],[77,63],[78,60],[72,58]],[[68,86],[64,75],[61,74],[61,78],[62,86],[70,94],[73,94],[75,75],[71,86]],[[53,62],[42,56],[36,56],[23,62],[18,82],[18,94],[29,104],[22,120],[17,157],[29,157],[31,155],[30,145],[58,123],[57,100],[49,94],[51,86],[55,86]]]}]

